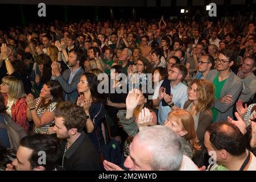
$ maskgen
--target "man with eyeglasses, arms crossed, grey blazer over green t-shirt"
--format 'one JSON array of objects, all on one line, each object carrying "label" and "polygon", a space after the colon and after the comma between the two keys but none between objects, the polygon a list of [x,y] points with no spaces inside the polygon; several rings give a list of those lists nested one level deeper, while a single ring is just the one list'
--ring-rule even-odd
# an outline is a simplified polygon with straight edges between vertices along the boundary
[{"label": "man with eyeglasses, arms crossed, grey blazer over green t-shirt", "polygon": [[236,57],[234,49],[222,49],[215,60],[216,69],[205,77],[212,81],[215,87],[213,122],[226,121],[228,116],[233,118],[233,107],[242,91],[241,78],[230,69]]}]

